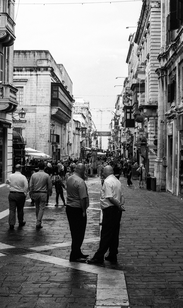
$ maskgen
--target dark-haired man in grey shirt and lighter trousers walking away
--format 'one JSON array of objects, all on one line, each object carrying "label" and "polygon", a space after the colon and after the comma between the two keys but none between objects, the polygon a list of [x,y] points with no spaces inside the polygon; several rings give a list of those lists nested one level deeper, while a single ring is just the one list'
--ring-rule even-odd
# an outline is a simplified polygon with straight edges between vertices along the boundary
[{"label": "dark-haired man in grey shirt and lighter trousers walking away", "polygon": [[52,195],[52,183],[50,176],[44,172],[44,164],[39,163],[38,169],[39,171],[34,173],[30,178],[30,195],[34,196],[35,207],[36,207],[36,228],[41,229],[43,226],[41,225],[44,209],[47,201],[47,193],[49,196]]}]

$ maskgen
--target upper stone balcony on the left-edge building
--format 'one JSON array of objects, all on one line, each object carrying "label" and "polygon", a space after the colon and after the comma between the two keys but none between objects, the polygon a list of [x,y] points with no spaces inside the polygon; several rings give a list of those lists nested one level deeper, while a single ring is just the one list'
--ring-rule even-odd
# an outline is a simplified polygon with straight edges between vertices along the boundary
[{"label": "upper stone balcony on the left-edge building", "polygon": [[7,13],[0,13],[0,43],[3,43],[5,47],[14,44],[15,23],[13,19]]}]

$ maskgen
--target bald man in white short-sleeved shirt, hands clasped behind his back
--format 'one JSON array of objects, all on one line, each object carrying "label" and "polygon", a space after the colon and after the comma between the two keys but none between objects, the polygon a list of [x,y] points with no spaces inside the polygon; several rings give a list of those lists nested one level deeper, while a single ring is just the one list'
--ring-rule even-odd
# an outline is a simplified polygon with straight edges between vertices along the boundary
[{"label": "bald man in white short-sleeved shirt, hands clasped behind his back", "polygon": [[104,254],[108,249],[109,254],[105,260],[117,261],[120,220],[122,211],[125,211],[121,183],[114,176],[112,166],[104,168],[104,178],[104,185],[100,191],[100,206],[103,212],[100,244],[93,258],[87,260],[91,264],[104,262]]}]

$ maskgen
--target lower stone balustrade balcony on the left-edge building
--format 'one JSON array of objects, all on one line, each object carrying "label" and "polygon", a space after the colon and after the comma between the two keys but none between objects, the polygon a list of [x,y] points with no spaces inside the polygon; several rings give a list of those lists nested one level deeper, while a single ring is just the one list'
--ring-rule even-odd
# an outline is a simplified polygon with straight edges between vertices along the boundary
[{"label": "lower stone balustrade balcony on the left-edge building", "polygon": [[7,113],[17,109],[17,91],[13,84],[7,81],[0,82],[0,111]]}]

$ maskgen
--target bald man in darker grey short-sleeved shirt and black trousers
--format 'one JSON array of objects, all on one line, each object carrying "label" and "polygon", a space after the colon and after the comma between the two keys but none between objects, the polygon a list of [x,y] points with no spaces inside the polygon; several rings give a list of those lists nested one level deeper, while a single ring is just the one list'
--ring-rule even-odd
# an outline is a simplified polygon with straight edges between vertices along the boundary
[{"label": "bald man in darker grey short-sleeved shirt and black trousers", "polygon": [[85,262],[88,255],[81,252],[81,245],[87,224],[86,209],[89,206],[89,197],[85,179],[85,166],[78,164],[75,173],[67,179],[67,206],[66,214],[71,231],[72,244],[69,261]]}]

